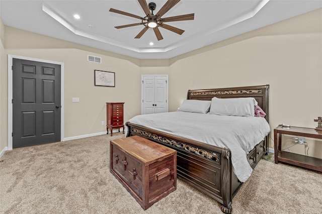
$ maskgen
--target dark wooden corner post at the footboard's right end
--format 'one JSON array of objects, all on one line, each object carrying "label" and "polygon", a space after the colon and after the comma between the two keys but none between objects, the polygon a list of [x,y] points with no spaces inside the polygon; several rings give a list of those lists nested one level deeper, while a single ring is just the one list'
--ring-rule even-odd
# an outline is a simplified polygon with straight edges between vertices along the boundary
[{"label": "dark wooden corner post at the footboard's right end", "polygon": [[222,166],[223,166],[223,179],[221,183],[221,192],[222,192],[222,201],[223,204],[220,204],[220,209],[224,213],[231,213],[231,158],[230,158],[230,149],[222,149]]}]

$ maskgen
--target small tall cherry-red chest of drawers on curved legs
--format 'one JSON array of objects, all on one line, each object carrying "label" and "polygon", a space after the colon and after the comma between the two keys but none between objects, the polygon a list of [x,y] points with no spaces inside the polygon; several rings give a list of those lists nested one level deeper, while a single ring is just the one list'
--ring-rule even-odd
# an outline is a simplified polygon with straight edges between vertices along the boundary
[{"label": "small tall cherry-red chest of drawers on curved legs", "polygon": [[113,136],[113,129],[123,128],[124,134],[124,119],[123,119],[124,102],[106,102],[106,130],[109,134],[111,129],[111,136]]}]

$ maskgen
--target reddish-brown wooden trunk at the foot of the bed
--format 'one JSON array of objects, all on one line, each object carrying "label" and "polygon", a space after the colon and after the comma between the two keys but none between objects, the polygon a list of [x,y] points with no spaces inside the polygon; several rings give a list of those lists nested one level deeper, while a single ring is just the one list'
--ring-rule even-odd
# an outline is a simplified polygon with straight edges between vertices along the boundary
[{"label": "reddish-brown wooden trunk at the foot of the bed", "polygon": [[110,172],[145,210],[177,189],[177,151],[139,136],[112,140]]}]

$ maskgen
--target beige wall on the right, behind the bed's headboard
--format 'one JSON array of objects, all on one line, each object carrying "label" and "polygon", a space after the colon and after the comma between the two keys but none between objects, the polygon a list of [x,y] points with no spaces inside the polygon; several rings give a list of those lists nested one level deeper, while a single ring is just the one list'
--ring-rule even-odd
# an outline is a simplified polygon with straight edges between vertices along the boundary
[{"label": "beige wall on the right, behind the bed's headboard", "polygon": [[[322,115],[321,14],[316,10],[171,59],[170,111],[188,89],[270,84],[271,130],[282,123],[315,128],[313,120]],[[291,151],[304,154],[304,146]],[[322,157],[321,151],[321,143],[310,144],[310,155]]]}]

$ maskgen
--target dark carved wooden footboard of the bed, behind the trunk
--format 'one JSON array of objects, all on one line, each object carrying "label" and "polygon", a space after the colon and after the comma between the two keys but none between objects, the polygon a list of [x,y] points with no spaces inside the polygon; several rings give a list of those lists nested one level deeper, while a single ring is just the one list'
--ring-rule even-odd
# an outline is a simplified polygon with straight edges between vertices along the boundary
[{"label": "dark carved wooden footboard of the bed, behind the trunk", "polygon": [[177,175],[231,213],[232,165],[230,150],[126,123],[127,137],[139,135],[177,150]]}]

